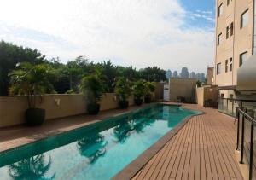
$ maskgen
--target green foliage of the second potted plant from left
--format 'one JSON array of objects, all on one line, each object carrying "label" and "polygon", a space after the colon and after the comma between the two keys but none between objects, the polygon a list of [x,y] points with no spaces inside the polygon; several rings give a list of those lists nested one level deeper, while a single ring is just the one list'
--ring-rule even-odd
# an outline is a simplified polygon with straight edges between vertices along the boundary
[{"label": "green foliage of the second potted plant from left", "polygon": [[80,89],[89,103],[96,104],[101,101],[103,93],[106,92],[102,74],[96,71],[96,73],[85,76],[80,84]]}]

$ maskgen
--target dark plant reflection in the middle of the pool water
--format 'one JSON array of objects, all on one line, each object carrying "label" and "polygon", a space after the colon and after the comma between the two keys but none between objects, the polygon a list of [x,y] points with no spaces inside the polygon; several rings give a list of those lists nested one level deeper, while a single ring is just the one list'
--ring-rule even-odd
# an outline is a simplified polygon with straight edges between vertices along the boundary
[{"label": "dark plant reflection in the middle of the pool water", "polygon": [[79,140],[78,148],[81,155],[89,158],[90,163],[94,163],[106,153],[107,143],[100,133],[90,132],[88,136]]}]

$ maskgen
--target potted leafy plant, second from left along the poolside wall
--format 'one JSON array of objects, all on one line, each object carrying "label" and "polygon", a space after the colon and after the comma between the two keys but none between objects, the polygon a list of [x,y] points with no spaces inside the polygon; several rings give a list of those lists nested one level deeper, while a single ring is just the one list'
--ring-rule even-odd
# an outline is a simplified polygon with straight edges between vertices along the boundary
[{"label": "potted leafy plant, second from left along the poolside wall", "polygon": [[102,80],[102,75],[98,71],[85,76],[80,84],[87,101],[87,112],[90,114],[97,114],[100,111],[103,94],[105,92],[105,83]]}]

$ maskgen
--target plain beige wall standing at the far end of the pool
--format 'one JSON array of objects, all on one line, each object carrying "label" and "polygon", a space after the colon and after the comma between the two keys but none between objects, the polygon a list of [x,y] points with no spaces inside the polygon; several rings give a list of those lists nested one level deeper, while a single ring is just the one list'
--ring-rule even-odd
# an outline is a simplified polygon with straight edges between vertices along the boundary
[{"label": "plain beige wall standing at the far end of the pool", "polygon": [[177,102],[179,96],[195,102],[195,78],[170,78],[170,101]]}]

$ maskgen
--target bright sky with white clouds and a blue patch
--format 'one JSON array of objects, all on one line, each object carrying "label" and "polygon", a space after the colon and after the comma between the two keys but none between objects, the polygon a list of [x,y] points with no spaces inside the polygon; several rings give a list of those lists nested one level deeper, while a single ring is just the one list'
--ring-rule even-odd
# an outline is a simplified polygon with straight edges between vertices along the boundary
[{"label": "bright sky with white clouds and a blue patch", "polygon": [[0,39],[61,61],[206,72],[214,0],[0,0]]}]

